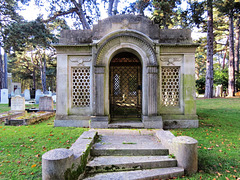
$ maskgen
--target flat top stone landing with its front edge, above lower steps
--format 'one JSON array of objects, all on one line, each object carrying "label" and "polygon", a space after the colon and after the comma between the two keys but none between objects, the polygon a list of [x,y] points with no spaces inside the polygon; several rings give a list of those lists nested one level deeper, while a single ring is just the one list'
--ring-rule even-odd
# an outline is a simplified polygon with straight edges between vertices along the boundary
[{"label": "flat top stone landing with its front edge, above lower steps", "polygon": [[144,156],[167,155],[165,149],[155,136],[149,135],[106,135],[94,144],[91,154],[94,156]]}]

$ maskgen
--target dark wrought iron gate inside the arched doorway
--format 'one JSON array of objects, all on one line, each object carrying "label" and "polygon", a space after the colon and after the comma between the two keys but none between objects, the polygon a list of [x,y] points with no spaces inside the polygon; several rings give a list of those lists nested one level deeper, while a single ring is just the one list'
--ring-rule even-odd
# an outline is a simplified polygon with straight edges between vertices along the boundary
[{"label": "dark wrought iron gate inside the arched doorway", "polygon": [[141,62],[131,53],[119,53],[110,63],[111,119],[140,118],[141,114]]}]

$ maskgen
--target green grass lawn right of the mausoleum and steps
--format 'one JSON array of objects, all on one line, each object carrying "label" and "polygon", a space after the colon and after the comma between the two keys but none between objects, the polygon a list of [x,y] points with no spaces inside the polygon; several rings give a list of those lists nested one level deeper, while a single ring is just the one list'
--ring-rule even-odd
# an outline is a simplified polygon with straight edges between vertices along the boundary
[{"label": "green grass lawn right of the mausoleum and steps", "polygon": [[199,128],[176,129],[198,140],[198,173],[186,179],[240,178],[240,98],[198,99]]}]

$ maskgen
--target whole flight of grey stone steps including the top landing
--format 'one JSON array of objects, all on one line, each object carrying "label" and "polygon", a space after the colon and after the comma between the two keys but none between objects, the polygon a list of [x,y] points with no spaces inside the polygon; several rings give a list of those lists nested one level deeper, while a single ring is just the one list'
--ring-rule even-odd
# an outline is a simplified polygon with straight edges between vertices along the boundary
[{"label": "whole flight of grey stone steps including the top landing", "polygon": [[86,166],[87,180],[167,179],[184,174],[152,133],[112,132],[105,132],[93,145],[92,160]]}]

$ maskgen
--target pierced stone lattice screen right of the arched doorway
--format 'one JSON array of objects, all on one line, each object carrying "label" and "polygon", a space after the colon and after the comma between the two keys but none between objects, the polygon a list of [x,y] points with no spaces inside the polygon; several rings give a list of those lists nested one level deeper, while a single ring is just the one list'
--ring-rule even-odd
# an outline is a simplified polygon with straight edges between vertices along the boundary
[{"label": "pierced stone lattice screen right of the arched doorway", "polygon": [[162,104],[179,105],[180,67],[162,67]]}]

